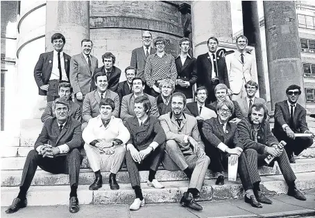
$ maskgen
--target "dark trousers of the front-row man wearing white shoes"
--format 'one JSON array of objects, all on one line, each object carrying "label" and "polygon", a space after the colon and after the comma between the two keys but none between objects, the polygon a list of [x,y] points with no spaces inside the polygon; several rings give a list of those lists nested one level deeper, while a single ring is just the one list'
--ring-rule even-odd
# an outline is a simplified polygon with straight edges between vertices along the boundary
[{"label": "dark trousers of the front-row man wearing white shoes", "polygon": [[[136,147],[139,151],[146,149],[146,147]],[[157,171],[157,168],[160,166],[162,158],[164,156],[165,143],[159,145],[154,152],[151,152],[144,160],[139,164],[133,161],[133,157],[130,154],[130,151],[126,152],[126,165],[129,173],[131,187],[139,186],[140,187],[140,175],[139,170],[154,170]]]}]

